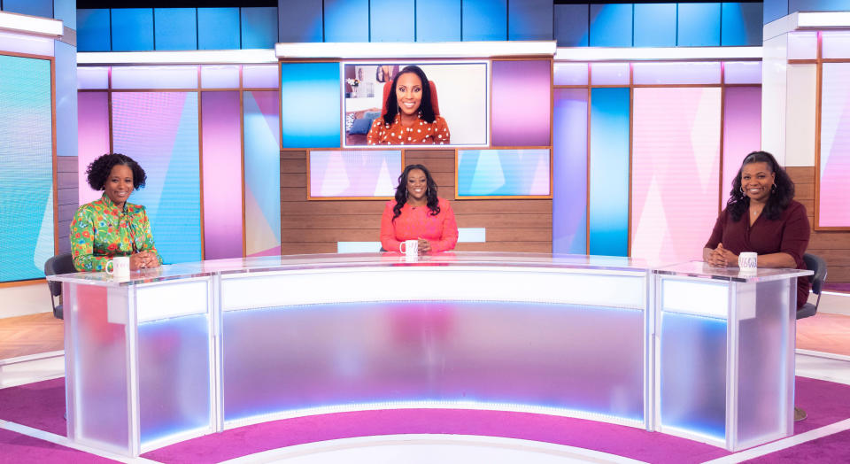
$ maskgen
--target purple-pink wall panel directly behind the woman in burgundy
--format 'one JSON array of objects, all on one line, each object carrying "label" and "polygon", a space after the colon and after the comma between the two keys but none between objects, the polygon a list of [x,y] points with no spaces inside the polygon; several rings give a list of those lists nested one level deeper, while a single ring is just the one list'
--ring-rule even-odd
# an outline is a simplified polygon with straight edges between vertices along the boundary
[{"label": "purple-pink wall panel directly behind the woman in burgundy", "polygon": [[761,87],[727,87],[724,98],[721,205],[746,154],[761,150]]}]

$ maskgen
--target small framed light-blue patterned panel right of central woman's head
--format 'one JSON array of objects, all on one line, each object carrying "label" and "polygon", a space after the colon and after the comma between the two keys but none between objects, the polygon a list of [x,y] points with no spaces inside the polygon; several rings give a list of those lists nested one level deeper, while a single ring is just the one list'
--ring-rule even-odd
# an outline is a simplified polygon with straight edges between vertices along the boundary
[{"label": "small framed light-blue patterned panel right of central woman's head", "polygon": [[549,195],[550,151],[459,150],[458,196]]}]

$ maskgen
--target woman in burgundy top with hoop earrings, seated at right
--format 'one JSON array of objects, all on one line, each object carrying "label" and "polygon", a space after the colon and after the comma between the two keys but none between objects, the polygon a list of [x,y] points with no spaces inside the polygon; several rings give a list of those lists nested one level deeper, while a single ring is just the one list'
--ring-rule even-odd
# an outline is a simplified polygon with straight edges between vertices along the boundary
[{"label": "woman in burgundy top with hoop earrings, seated at right", "polygon": [[[811,228],[806,207],[793,200],[794,182],[773,155],[746,155],[732,181],[726,209],[702,252],[711,266],[738,266],[738,254],[755,251],[759,267],[806,269],[803,254]],[[797,279],[797,307],[806,304],[811,283]]]}]

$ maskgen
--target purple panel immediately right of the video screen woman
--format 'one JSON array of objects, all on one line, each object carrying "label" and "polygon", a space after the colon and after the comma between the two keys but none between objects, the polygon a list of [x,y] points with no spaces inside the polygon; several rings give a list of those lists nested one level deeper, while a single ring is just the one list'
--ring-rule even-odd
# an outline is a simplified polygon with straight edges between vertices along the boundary
[{"label": "purple panel immediately right of the video screen woman", "polygon": [[549,145],[551,78],[549,60],[493,62],[494,147]]}]

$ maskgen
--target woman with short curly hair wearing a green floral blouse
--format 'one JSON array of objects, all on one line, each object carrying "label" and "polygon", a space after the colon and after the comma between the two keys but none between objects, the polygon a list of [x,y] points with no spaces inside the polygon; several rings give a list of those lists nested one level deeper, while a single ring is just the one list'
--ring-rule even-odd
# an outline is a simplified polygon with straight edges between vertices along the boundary
[{"label": "woman with short curly hair wearing a green floral blouse", "polygon": [[105,271],[106,262],[115,256],[129,256],[132,270],[162,264],[144,206],[127,202],[134,189],[144,187],[142,166],[128,156],[110,153],[92,161],[86,174],[89,186],[104,190],[104,195],[81,205],[73,215],[73,267]]}]

